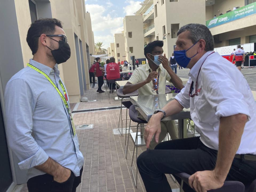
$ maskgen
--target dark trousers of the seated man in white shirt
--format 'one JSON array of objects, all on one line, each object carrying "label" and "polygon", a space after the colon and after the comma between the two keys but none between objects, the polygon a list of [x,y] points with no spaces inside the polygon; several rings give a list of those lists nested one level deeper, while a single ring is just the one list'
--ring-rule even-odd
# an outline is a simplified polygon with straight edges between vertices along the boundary
[{"label": "dark trousers of the seated man in white shirt", "polygon": [[[137,159],[147,192],[171,191],[166,174],[213,170],[218,151],[205,146],[199,137],[176,139],[159,143],[154,150],[144,151]],[[174,175],[175,177],[175,175]],[[180,183],[181,179],[175,177]],[[241,181],[245,185],[256,179],[256,162],[234,158],[227,181]],[[183,190],[192,190],[185,182]]]}]

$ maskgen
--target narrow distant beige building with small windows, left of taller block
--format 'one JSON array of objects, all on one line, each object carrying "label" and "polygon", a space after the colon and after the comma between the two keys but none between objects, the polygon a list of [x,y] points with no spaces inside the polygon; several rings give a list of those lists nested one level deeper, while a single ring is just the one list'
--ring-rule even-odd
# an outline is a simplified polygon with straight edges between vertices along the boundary
[{"label": "narrow distant beige building with small windows, left of taller block", "polygon": [[116,62],[126,60],[125,56],[125,38],[123,33],[114,34],[114,43],[115,43],[115,59]]}]

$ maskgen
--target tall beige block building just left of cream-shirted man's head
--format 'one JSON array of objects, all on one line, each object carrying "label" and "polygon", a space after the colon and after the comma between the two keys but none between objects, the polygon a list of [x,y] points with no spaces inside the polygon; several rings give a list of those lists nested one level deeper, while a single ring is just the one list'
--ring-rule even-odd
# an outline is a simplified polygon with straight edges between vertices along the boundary
[{"label": "tall beige block building just left of cream-shirted man's head", "polygon": [[126,60],[132,64],[132,56],[135,56],[135,59],[145,58],[143,16],[125,16],[123,19],[123,29],[125,36]]}]

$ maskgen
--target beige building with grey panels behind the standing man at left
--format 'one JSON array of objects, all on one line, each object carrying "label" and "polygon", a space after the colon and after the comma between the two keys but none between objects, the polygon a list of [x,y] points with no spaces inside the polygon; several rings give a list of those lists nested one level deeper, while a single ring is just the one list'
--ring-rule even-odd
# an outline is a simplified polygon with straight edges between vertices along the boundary
[{"label": "beige building with grey panels behind the standing man at left", "polygon": [[[90,13],[86,13],[83,0],[9,0],[0,6],[0,191],[12,191],[16,184],[24,183],[26,171],[18,167],[19,160],[6,144],[4,91],[9,79],[33,57],[26,42],[27,30],[38,18],[57,18],[63,22],[70,49],[70,59],[57,65],[69,93],[70,103],[79,102],[85,89],[89,89],[90,54],[94,55],[94,37]],[[11,25],[10,25],[11,23]],[[2,119],[3,117],[3,119]],[[7,190],[6,190],[7,189]]]}]

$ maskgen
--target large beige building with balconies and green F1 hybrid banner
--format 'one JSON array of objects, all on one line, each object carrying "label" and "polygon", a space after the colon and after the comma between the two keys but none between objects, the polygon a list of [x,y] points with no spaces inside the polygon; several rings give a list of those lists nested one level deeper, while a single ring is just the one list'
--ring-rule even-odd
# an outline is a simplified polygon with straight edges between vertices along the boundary
[{"label": "large beige building with balconies and green F1 hybrid banner", "polygon": [[[154,40],[163,40],[164,53],[170,58],[174,51],[177,31],[181,26],[188,23],[206,25],[207,21],[213,20],[214,15],[220,16],[217,20],[224,20],[227,13],[235,14],[235,11],[238,11],[239,14],[241,9],[244,9],[244,13],[247,9],[255,13],[255,2],[256,0],[194,0],[193,3],[189,0],[145,0],[140,3],[141,9],[134,14],[143,15],[144,46]],[[188,5],[189,13],[184,14],[181,9]],[[238,10],[233,10],[234,7]],[[247,17],[237,17],[234,21],[223,22],[222,25],[209,26],[214,36],[214,47],[256,42],[255,21],[256,14],[251,14]]]}]

